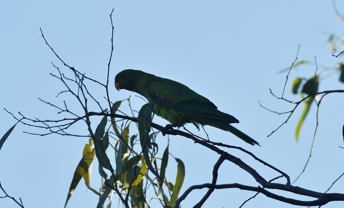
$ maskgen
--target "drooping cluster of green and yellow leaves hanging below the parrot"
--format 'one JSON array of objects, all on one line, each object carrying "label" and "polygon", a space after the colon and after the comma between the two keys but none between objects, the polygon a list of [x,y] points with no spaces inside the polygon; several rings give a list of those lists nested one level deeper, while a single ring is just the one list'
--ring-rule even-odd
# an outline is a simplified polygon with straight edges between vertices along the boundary
[{"label": "drooping cluster of green and yellow leaves hanging below the parrot", "polygon": [[[113,113],[119,108],[121,102],[114,103],[112,106]],[[130,123],[127,123],[124,129],[119,130],[115,118],[110,118],[111,127],[107,126],[108,118],[106,116],[103,117],[97,126],[94,138],[90,138],[89,144],[85,146],[83,158],[80,160],[73,176],[66,205],[78,182],[81,178],[84,178],[86,186],[99,195],[97,205],[99,208],[104,207],[106,201],[108,201],[107,207],[111,206],[115,186],[118,187],[120,194],[128,196],[126,198],[129,199],[131,207],[146,207],[150,199],[153,198],[145,198],[147,187],[149,186],[154,189],[156,194],[154,198],[159,198],[164,207],[173,207],[184,181],[185,167],[182,160],[175,158],[177,162],[175,183],[166,181],[165,171],[168,164],[169,146],[166,147],[162,155],[159,167],[157,163],[157,160],[160,160],[158,158],[158,145],[152,142],[157,133],[149,134],[151,120],[152,111],[149,105],[146,104],[141,108],[138,116],[138,137],[138,134],[129,136]],[[110,129],[114,132],[109,132]],[[94,143],[93,149],[90,148],[92,140]],[[113,142],[115,142],[115,145],[109,146]],[[135,147],[137,143],[141,144],[141,153],[134,150],[134,148],[137,148]],[[114,148],[116,160],[108,157],[107,149],[109,147]],[[91,169],[94,155],[96,155],[99,161],[99,174],[104,178],[99,192],[89,186],[88,172]],[[112,168],[114,165],[116,168]],[[107,171],[104,169],[107,169]]]}]

